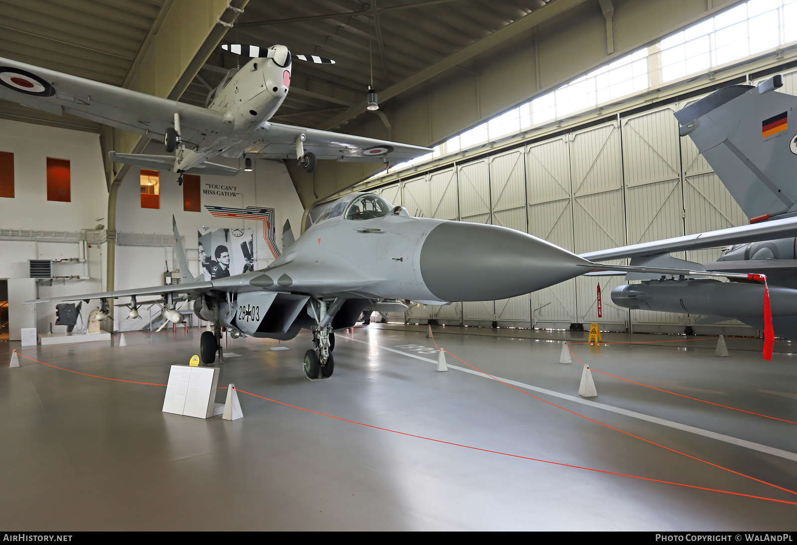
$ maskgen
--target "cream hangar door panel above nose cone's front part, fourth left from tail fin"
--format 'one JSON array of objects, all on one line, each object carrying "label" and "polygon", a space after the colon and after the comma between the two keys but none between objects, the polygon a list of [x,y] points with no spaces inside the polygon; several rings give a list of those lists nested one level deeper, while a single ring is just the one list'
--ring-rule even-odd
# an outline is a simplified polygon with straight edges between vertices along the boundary
[{"label": "cream hangar door panel above nose cone's front part, fourth left from tail fin", "polygon": [[[573,250],[570,152],[558,138],[526,150],[528,233]],[[567,327],[575,318],[575,280],[532,293],[532,321],[539,327]]]}]

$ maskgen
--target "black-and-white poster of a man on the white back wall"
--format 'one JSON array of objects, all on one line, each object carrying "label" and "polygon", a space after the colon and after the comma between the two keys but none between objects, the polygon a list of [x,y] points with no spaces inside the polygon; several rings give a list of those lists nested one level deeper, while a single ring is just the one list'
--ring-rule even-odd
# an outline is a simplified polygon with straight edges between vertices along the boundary
[{"label": "black-and-white poster of a man on the white back wall", "polygon": [[252,229],[201,227],[198,236],[199,270],[205,280],[217,280],[254,270]]}]

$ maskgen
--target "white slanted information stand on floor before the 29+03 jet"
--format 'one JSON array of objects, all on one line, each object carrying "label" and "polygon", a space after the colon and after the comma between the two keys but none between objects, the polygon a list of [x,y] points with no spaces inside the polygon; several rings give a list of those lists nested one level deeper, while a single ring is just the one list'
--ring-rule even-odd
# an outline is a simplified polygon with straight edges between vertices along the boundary
[{"label": "white slanted information stand on floor before the 29+03 jet", "polygon": [[218,367],[173,365],[169,371],[163,412],[194,418],[210,418],[224,412],[223,403],[215,403]]}]

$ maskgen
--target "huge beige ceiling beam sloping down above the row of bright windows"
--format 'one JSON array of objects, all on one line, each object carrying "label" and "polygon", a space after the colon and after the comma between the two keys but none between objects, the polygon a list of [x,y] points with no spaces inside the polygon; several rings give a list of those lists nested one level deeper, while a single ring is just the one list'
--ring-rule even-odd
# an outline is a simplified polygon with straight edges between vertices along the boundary
[{"label": "huge beige ceiling beam sloping down above the row of bright windows", "polygon": [[[390,88],[378,89],[384,118],[363,114],[363,92],[356,96],[358,104],[319,128],[346,124],[350,134],[434,146],[740,2],[612,0],[611,6],[602,6],[600,0],[552,0]],[[610,39],[614,53],[609,52]],[[293,163],[286,161],[286,167],[304,206],[384,168],[379,163],[320,161],[307,174]],[[407,177],[411,174],[411,169],[406,171]]]}]

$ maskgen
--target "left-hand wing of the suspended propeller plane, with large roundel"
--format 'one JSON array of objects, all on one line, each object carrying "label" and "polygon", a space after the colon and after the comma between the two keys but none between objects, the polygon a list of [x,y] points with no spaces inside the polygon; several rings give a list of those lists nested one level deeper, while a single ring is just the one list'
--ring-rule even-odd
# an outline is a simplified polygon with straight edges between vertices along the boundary
[{"label": "left-hand wing of the suspended propeller plane, with large roundel", "polygon": [[4,58],[0,58],[0,98],[153,139],[163,139],[176,112],[183,142],[195,145],[210,143],[231,130],[230,124],[222,123],[220,112]]}]

